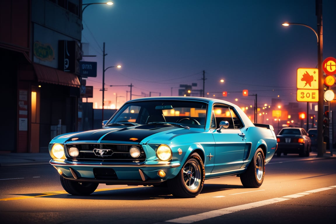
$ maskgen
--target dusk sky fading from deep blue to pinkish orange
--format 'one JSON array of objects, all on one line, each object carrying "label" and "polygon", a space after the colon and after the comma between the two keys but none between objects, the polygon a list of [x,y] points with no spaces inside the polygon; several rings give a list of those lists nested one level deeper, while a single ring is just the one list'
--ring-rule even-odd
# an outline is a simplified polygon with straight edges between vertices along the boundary
[{"label": "dusk sky fading from deep blue to pinkish orange", "polygon": [[[84,3],[107,2],[105,0]],[[203,89],[205,95],[253,105],[272,98],[296,102],[296,71],[317,68],[315,0],[112,0],[83,12],[82,42],[88,43],[85,61],[97,61],[94,108],[102,105],[102,58],[105,42],[105,101],[119,108],[130,98],[178,95],[180,84]],[[336,1],[323,0],[323,59],[336,57]],[[224,82],[221,83],[220,80]],[[227,97],[222,96],[227,91]],[[209,95],[207,95],[209,93]],[[215,95],[215,96],[213,96]],[[278,97],[279,95],[279,97]],[[84,100],[85,102],[85,100]],[[302,102],[301,102],[302,103]]]}]

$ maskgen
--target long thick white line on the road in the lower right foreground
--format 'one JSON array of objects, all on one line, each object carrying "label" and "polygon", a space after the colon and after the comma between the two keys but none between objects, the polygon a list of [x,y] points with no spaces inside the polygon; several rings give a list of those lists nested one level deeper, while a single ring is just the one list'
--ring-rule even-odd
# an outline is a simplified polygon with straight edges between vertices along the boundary
[{"label": "long thick white line on the road in the lower right foreground", "polygon": [[319,188],[319,189],[315,189],[315,190],[304,191],[304,192],[301,192],[301,193],[291,194],[291,195],[287,195],[287,196],[283,196],[283,197],[276,197],[276,198],[271,198],[271,199],[267,199],[267,200],[248,203],[248,204],[245,204],[245,205],[233,206],[233,207],[229,207],[229,208],[204,212],[204,213],[200,213],[200,214],[196,214],[196,215],[185,216],[185,217],[181,217],[181,218],[177,218],[177,219],[171,219],[171,220],[167,220],[165,222],[173,222],[173,223],[198,222],[198,221],[214,218],[214,217],[217,217],[217,216],[222,216],[222,215],[233,213],[233,212],[239,212],[239,211],[246,210],[246,209],[252,209],[252,208],[256,208],[256,207],[260,207],[260,206],[264,206],[264,205],[269,205],[269,204],[274,204],[274,203],[278,203],[278,202],[281,202],[281,201],[285,201],[285,200],[289,200],[289,199],[293,199],[293,198],[297,198],[297,197],[302,197],[302,196],[305,196],[305,195],[308,195],[308,194],[311,194],[311,193],[316,193],[316,192],[320,192],[320,191],[324,191],[324,190],[333,189],[335,187],[336,187],[336,185],[335,186],[330,186],[330,187]]}]

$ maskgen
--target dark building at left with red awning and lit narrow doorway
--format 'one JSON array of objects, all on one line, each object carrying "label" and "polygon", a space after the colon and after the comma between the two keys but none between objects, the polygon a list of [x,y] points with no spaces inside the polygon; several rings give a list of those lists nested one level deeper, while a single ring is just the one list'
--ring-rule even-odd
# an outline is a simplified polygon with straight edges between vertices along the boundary
[{"label": "dark building at left with red awning and lit narrow doorway", "polygon": [[0,1],[0,152],[47,152],[78,129],[80,0]]}]

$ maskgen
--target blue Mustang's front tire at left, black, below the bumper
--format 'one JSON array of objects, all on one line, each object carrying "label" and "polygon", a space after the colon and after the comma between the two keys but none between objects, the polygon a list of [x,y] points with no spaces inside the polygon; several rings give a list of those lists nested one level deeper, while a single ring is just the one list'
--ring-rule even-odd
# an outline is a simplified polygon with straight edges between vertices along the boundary
[{"label": "blue Mustang's front tire at left, black, below the bumper", "polygon": [[60,176],[60,180],[63,188],[72,195],[89,195],[93,193],[98,187],[98,183],[81,183],[65,179],[62,176]]}]

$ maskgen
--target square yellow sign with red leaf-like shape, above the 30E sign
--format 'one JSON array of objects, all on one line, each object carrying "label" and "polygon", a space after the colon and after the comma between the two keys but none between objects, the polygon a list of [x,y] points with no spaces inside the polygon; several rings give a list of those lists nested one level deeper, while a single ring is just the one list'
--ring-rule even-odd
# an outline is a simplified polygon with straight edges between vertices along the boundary
[{"label": "square yellow sign with red leaf-like shape, above the 30E sign", "polygon": [[297,82],[298,89],[319,89],[319,70],[311,68],[297,69]]}]

